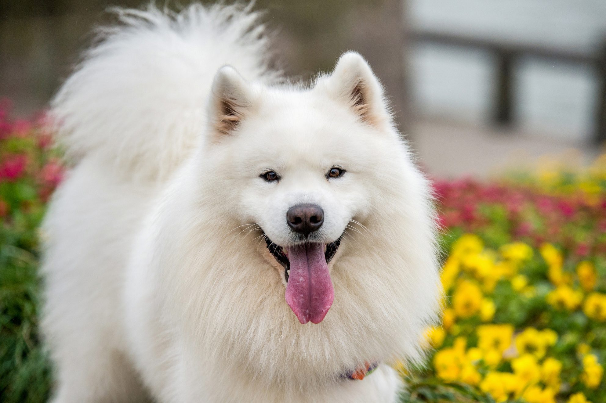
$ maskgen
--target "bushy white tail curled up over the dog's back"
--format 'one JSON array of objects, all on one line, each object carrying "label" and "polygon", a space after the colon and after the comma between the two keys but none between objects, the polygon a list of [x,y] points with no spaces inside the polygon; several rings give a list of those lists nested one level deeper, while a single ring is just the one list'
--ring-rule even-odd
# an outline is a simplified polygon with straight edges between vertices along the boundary
[{"label": "bushy white tail curled up over the dog's back", "polygon": [[165,178],[206,124],[219,67],[275,81],[268,41],[250,6],[190,5],[179,13],[117,9],[52,102],[68,157],[96,155],[128,175]]}]

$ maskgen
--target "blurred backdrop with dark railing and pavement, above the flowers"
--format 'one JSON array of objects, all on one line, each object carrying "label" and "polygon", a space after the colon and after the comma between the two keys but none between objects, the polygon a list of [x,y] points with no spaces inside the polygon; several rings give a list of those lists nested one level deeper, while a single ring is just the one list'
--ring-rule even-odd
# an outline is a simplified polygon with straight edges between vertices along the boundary
[{"label": "blurred backdrop with dark railing and pavement, above the flowers", "polygon": [[[111,6],[0,0],[0,98],[44,108]],[[188,1],[181,1],[181,5]],[[161,5],[160,2],[158,4]],[[178,8],[176,2],[168,7]],[[606,139],[604,0],[259,0],[277,62],[308,80],[358,50],[428,172],[488,176]]]}]

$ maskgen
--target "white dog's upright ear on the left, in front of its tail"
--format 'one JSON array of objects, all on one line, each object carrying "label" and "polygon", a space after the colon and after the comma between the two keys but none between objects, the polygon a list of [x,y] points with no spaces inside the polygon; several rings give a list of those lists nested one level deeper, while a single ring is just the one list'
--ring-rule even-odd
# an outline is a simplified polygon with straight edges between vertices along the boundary
[{"label": "white dog's upright ear on the left, in front of its tail", "polygon": [[216,135],[228,135],[238,127],[251,107],[248,83],[231,66],[219,69],[211,89],[211,130]]}]

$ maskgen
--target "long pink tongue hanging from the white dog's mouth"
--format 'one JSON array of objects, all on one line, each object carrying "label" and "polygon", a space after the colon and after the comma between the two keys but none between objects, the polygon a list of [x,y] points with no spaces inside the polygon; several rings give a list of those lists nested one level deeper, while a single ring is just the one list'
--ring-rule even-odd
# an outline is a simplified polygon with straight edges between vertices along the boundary
[{"label": "long pink tongue hanging from the white dog's mouth", "polygon": [[290,275],[286,284],[286,302],[299,322],[320,323],[335,299],[324,245],[287,247]]}]

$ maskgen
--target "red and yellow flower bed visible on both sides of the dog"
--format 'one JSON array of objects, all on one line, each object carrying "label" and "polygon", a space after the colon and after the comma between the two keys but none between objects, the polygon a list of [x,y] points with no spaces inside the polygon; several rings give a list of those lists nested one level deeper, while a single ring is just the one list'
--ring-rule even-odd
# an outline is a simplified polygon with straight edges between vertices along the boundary
[{"label": "red and yellow flower bed visible on both sides of the dog", "polygon": [[[61,181],[43,116],[0,103],[0,401],[48,396],[38,225]],[[606,402],[606,157],[493,183],[436,181],[442,324],[404,402]],[[447,256],[446,256],[447,255]]]}]

